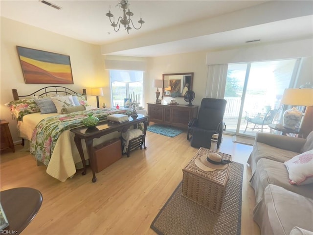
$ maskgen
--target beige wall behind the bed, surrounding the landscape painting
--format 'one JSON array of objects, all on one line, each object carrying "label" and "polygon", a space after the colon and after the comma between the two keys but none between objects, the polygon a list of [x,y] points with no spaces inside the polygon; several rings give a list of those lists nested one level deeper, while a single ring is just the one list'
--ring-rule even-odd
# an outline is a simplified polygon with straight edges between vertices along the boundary
[{"label": "beige wall behind the bed, surrounding the landscape painting", "polygon": [[[47,84],[25,84],[16,46],[29,47],[70,56],[74,84],[66,87],[82,92],[87,88],[108,87],[104,60],[100,46],[91,45],[65,36],[61,36],[37,27],[22,24],[1,17],[1,61],[0,61],[0,118],[10,122],[13,141],[17,137],[16,120],[11,118],[9,108],[4,106],[12,101],[11,90],[17,89],[19,94],[32,93]],[[109,96],[110,97],[110,96]],[[109,97],[99,97],[100,102],[110,103]],[[107,99],[108,100],[105,100]],[[96,106],[95,96],[88,96],[89,102]]]}]

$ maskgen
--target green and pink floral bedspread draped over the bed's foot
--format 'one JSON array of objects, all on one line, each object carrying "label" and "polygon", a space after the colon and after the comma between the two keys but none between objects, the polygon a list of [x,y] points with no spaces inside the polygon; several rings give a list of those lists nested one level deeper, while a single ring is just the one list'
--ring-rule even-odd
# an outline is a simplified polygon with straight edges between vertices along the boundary
[{"label": "green and pink floral bedspread draped over the bed's foot", "polygon": [[129,110],[94,109],[56,115],[41,120],[34,129],[30,141],[30,153],[45,165],[49,164],[55,144],[63,131],[80,126],[89,113],[101,120],[111,114],[128,114]]}]

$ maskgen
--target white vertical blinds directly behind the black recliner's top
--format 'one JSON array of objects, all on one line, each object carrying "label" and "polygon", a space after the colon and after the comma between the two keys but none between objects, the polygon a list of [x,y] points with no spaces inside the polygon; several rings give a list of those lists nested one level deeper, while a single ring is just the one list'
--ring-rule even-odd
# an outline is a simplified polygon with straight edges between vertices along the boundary
[{"label": "white vertical blinds directly behind the black recliner's top", "polygon": [[206,98],[224,98],[228,64],[209,65],[206,83]]}]

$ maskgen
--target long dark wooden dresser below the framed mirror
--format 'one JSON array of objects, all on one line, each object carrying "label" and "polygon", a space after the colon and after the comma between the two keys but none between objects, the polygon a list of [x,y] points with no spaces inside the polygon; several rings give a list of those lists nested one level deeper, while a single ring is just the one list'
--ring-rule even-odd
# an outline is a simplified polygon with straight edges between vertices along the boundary
[{"label": "long dark wooden dresser below the framed mirror", "polygon": [[198,107],[148,103],[150,121],[160,124],[188,128],[191,118],[197,118]]}]

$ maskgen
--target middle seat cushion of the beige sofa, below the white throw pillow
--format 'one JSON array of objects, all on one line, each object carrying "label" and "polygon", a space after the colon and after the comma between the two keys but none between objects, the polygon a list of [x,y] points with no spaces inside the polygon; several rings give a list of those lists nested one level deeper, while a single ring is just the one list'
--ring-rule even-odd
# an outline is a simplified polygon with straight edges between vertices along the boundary
[{"label": "middle seat cushion of the beige sofa, below the white throw pillow", "polygon": [[291,185],[285,164],[266,158],[258,161],[257,169],[250,180],[250,184],[254,188],[257,203],[262,200],[264,189],[268,184],[277,185],[305,197],[313,198],[313,184]]}]

